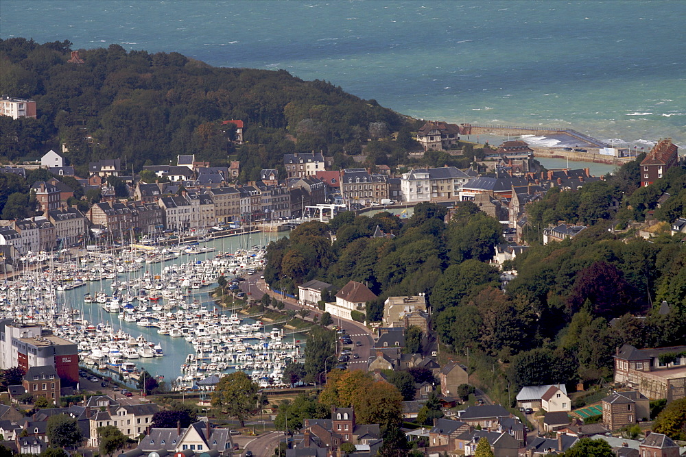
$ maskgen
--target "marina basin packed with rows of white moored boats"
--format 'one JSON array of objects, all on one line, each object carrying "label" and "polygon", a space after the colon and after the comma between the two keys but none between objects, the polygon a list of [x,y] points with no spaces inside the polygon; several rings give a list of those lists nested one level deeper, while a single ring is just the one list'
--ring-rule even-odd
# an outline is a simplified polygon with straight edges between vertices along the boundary
[{"label": "marina basin packed with rows of white moored boats", "polygon": [[3,278],[1,317],[45,325],[78,344],[81,365],[115,379],[136,380],[145,369],[180,391],[241,369],[261,386],[278,385],[303,337],[220,309],[210,293],[220,275],[261,269],[265,246],[288,233],[27,256],[25,266],[43,268]]}]

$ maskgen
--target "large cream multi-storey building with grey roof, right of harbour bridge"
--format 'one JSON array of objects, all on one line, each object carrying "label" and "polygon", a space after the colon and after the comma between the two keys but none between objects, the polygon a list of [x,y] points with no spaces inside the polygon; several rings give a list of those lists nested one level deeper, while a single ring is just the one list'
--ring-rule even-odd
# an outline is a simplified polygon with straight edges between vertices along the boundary
[{"label": "large cream multi-storey building with grey roof, right of harbour bridge", "polygon": [[473,179],[456,166],[416,169],[403,173],[400,179],[403,201],[457,200],[460,189]]}]

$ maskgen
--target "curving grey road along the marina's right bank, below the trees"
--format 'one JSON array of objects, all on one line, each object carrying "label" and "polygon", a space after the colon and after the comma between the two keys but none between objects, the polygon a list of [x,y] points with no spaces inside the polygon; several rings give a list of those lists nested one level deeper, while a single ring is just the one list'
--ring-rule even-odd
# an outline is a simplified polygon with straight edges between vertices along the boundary
[{"label": "curving grey road along the marina's right bank, below the trees", "polygon": [[[260,279],[260,273],[255,273],[254,275],[247,275],[245,281],[241,281],[240,284],[241,291],[250,295],[253,300],[261,300],[265,291],[268,291],[267,284],[264,280]],[[285,309],[287,310],[300,310],[306,308],[310,310],[309,316],[305,317],[305,320],[312,321],[314,317],[321,317],[322,310],[312,306],[303,306],[298,304],[298,301],[290,297],[281,297],[281,295],[269,291],[269,295],[276,297],[283,301]],[[355,321],[347,321],[346,319],[340,319],[339,317],[333,317],[333,323],[338,325],[340,328],[346,331],[353,342],[359,341],[362,343],[361,346],[353,345],[351,347],[353,354],[358,354],[359,358],[355,359],[353,357],[348,360],[348,369],[350,370],[365,370],[368,367],[368,359],[370,356],[375,356],[373,345],[374,338],[372,338],[372,333],[366,328],[362,323]],[[342,347],[340,348],[342,349]]]}]

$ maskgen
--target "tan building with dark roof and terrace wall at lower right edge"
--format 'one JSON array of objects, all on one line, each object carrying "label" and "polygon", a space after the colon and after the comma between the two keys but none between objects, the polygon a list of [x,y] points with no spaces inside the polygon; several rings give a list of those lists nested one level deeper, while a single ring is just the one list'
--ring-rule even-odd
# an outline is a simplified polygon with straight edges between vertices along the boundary
[{"label": "tan building with dark roof and terrace wall at lower right edge", "polygon": [[615,382],[667,403],[686,397],[686,346],[617,348]]}]

